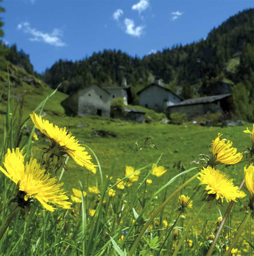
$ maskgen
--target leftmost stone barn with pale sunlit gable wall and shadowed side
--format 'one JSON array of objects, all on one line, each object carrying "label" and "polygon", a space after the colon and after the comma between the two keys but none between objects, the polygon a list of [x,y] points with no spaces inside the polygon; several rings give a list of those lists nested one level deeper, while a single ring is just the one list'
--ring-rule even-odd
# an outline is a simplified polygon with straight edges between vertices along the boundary
[{"label": "leftmost stone barn with pale sunlit gable wall and shadowed side", "polygon": [[97,85],[91,85],[78,90],[65,100],[61,105],[65,108],[65,114],[78,115],[99,115],[103,117],[110,116],[110,93]]}]

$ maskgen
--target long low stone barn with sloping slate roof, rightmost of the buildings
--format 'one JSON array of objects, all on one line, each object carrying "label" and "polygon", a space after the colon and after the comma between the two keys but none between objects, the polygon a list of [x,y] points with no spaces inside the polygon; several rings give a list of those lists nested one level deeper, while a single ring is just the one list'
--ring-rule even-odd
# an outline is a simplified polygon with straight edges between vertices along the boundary
[{"label": "long low stone barn with sloping slate roof, rightmost of the buildings", "polygon": [[170,114],[175,112],[186,113],[188,120],[191,120],[192,117],[203,116],[208,111],[212,113],[234,113],[232,94],[213,95],[181,101],[167,108],[167,116],[170,117]]}]

